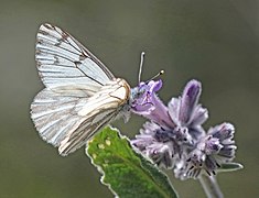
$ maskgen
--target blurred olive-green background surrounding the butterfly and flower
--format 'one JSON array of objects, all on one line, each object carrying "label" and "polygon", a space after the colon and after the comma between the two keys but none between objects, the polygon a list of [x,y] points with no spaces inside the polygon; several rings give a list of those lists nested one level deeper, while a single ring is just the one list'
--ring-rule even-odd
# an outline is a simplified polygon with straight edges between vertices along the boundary
[{"label": "blurred olive-green background surrounding the butterfly and flower", "polygon": [[[74,35],[118,77],[137,85],[160,69],[166,103],[187,80],[203,82],[205,127],[236,125],[236,162],[245,168],[220,174],[226,197],[259,195],[259,1],[253,0],[45,0],[0,1],[0,197],[112,197],[84,150],[61,157],[40,139],[30,103],[43,85],[34,62],[41,23]],[[133,136],[143,119],[116,127]],[[205,197],[195,180],[169,173],[181,197]]]}]

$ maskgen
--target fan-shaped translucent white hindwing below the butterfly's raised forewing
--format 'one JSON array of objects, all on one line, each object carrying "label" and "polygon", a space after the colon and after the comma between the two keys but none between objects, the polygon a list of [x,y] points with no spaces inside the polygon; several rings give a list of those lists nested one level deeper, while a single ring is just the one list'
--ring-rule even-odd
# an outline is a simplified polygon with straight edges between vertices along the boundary
[{"label": "fan-shaped translucent white hindwing below the butterfly's raised forewing", "polygon": [[64,97],[45,88],[31,105],[31,118],[41,138],[54,146],[60,146],[69,131],[75,131],[84,118],[78,117],[75,107],[85,99]]}]

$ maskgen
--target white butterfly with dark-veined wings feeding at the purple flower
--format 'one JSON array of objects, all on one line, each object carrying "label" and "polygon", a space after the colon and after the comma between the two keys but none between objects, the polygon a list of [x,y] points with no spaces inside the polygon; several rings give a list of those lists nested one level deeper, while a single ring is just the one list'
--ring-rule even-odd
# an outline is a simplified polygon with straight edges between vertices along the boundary
[{"label": "white butterfly with dark-veined wings feeding at the purple flower", "polygon": [[40,135],[67,155],[122,116],[129,118],[130,86],[72,35],[51,24],[36,35],[36,66],[45,88],[31,105]]}]

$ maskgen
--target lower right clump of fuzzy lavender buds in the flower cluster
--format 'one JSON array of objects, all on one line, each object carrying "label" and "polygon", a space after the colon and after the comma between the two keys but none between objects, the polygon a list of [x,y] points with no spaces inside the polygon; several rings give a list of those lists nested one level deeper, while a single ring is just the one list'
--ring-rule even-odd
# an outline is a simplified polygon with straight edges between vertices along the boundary
[{"label": "lower right clump of fuzzy lavender buds in the flower cluster", "polygon": [[184,177],[193,177],[196,175],[194,173],[205,170],[208,175],[215,175],[220,164],[228,163],[235,157],[237,147],[233,140],[234,132],[234,125],[230,123],[211,128],[188,154],[187,167],[182,169],[181,174]]}]

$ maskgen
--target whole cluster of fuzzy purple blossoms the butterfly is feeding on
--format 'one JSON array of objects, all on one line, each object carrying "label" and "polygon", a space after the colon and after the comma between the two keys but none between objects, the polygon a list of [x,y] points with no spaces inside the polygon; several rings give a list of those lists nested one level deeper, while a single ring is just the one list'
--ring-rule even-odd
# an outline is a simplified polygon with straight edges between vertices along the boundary
[{"label": "whole cluster of fuzzy purple blossoms the butterfly is feeding on", "polygon": [[182,96],[172,98],[168,107],[155,94],[161,87],[161,80],[151,80],[132,90],[132,111],[150,121],[131,144],[155,164],[173,168],[177,178],[215,175],[220,164],[235,157],[234,127],[223,123],[205,132],[202,124],[208,111],[198,103],[199,81],[188,81]]}]

